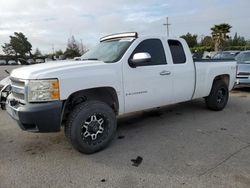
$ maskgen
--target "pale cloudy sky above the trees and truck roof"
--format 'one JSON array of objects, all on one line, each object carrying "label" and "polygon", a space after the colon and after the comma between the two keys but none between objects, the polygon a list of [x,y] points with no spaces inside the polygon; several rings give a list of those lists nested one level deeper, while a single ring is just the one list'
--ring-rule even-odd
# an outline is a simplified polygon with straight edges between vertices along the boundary
[{"label": "pale cloudy sky above the trees and truck roof", "polygon": [[0,6],[0,45],[15,31],[23,32],[43,53],[64,50],[74,35],[91,47],[107,34],[138,31],[143,35],[187,32],[199,38],[209,35],[214,24],[229,23],[230,35],[250,39],[249,0],[8,0]]}]

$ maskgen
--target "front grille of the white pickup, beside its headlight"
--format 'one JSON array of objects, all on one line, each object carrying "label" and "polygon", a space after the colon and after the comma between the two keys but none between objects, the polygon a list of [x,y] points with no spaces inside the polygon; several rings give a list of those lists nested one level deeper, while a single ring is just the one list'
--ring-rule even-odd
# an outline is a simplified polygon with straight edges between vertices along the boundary
[{"label": "front grille of the white pickup, beside its headlight", "polygon": [[25,82],[15,78],[10,78],[10,80],[13,97],[21,103],[25,103]]}]

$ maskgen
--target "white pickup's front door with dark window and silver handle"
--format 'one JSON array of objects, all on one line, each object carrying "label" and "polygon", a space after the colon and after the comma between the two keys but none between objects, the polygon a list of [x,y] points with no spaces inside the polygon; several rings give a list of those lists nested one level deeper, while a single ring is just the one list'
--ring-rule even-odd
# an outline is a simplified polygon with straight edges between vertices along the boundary
[{"label": "white pickup's front door with dark window and silver handle", "polygon": [[133,68],[123,63],[123,83],[125,112],[133,112],[169,104],[172,98],[172,68],[166,60],[165,50],[160,39],[145,39],[132,51],[147,52],[151,61]]}]

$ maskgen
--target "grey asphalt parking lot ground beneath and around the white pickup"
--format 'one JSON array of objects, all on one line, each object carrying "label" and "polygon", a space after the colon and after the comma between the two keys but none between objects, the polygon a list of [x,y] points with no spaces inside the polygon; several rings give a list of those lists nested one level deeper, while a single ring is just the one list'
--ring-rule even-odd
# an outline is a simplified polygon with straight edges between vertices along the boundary
[{"label": "grey asphalt parking lot ground beneath and around the white pickup", "polygon": [[123,117],[93,155],[0,111],[0,187],[250,187],[250,90],[230,95],[221,112],[200,99]]}]

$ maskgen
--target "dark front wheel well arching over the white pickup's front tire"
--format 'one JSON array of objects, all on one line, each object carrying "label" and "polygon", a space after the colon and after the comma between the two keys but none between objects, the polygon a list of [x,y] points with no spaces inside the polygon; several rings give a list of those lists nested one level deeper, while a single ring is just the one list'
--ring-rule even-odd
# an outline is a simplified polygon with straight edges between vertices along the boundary
[{"label": "dark front wheel well arching over the white pickup's front tire", "polygon": [[92,88],[92,89],[77,91],[68,97],[68,99],[64,102],[62,120],[67,119],[67,116],[76,105],[83,103],[87,100],[102,101],[107,105],[109,105],[114,110],[115,114],[118,114],[119,112],[119,101],[117,93],[114,88],[112,87]]}]

